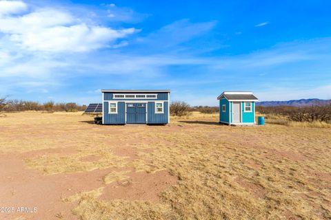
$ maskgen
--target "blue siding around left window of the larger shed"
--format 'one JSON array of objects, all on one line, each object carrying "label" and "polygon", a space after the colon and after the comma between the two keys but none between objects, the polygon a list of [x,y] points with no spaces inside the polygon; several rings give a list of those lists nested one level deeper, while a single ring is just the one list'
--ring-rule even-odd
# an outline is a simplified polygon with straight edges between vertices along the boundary
[{"label": "blue siding around left window of the larger shed", "polygon": [[116,114],[110,114],[108,108],[109,108],[109,102],[103,102],[103,117],[105,124],[126,124],[125,102],[117,102]]}]

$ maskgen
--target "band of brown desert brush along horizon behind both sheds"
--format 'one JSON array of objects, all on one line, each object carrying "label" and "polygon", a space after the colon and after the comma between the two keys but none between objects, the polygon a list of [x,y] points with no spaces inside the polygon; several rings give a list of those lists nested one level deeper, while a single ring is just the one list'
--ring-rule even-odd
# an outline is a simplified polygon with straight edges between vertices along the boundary
[{"label": "band of brown desert brush along horizon behind both sheds", "polygon": [[[0,111],[85,111],[86,105],[79,105],[75,102],[68,103],[54,103],[48,101],[44,103],[23,101],[23,100],[7,100],[0,98]],[[218,113],[219,107],[208,106],[190,106],[190,104],[183,101],[174,101],[170,104],[170,115],[185,116],[190,115],[192,111],[199,111],[201,113]],[[331,122],[331,102],[324,105],[310,105],[304,107],[293,106],[274,106],[263,107],[257,106],[256,111],[261,114],[281,115],[288,120],[296,122]]]}]

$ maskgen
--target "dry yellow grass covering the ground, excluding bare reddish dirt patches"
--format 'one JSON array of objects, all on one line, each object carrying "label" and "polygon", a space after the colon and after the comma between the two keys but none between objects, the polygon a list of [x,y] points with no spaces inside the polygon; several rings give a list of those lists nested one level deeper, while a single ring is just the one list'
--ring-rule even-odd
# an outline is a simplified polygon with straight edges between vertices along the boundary
[{"label": "dry yellow grass covering the ground, excluding bare reddish dirt patches", "polygon": [[[32,118],[38,117],[41,122],[35,124]],[[4,133],[12,137],[21,132],[28,143],[11,144],[0,135],[6,141],[0,151],[23,153],[68,144],[78,153],[48,153],[29,158],[26,165],[48,174],[122,166],[136,172],[167,170],[179,180],[160,193],[160,203],[100,199],[102,188],[65,199],[78,202],[74,213],[81,219],[331,219],[330,128],[284,126],[270,118],[265,126],[221,126],[218,114],[201,113],[172,118],[170,126],[79,122],[87,117],[9,114],[0,118]],[[41,126],[52,130],[34,133]],[[134,159],[114,153],[123,147],[137,151]],[[81,162],[86,155],[100,159]],[[124,177],[126,173],[110,173],[103,180]]]}]

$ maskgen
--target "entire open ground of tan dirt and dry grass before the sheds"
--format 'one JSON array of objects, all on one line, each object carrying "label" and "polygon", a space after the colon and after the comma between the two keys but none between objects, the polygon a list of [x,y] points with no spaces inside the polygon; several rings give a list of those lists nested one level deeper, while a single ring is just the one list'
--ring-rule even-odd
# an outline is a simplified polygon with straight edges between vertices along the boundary
[{"label": "entire open ground of tan dirt and dry grass before the sheds", "polygon": [[331,129],[0,117],[0,219],[331,219]]}]

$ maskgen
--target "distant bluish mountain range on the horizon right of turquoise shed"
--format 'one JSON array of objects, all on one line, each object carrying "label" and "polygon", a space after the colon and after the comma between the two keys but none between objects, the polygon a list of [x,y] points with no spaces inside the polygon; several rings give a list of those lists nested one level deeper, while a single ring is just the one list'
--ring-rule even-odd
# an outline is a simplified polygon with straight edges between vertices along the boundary
[{"label": "distant bluish mountain range on the horizon right of turquoise shed", "polygon": [[323,105],[328,104],[331,100],[323,100],[318,98],[308,98],[300,100],[288,100],[288,101],[265,101],[257,102],[257,106],[279,106],[279,105],[290,105],[290,106],[306,106],[306,105]]}]

